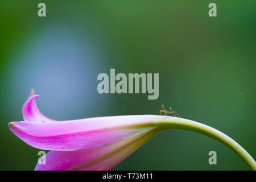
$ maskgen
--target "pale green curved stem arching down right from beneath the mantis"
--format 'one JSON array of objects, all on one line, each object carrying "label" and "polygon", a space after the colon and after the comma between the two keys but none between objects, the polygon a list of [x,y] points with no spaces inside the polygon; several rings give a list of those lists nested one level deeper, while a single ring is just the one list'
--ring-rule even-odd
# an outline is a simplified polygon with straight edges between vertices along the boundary
[{"label": "pale green curved stem arching down right from beneath the mantis", "polygon": [[159,120],[163,121],[163,130],[168,129],[180,129],[180,130],[189,130],[195,131],[196,133],[200,133],[203,135],[207,135],[210,138],[216,139],[218,142],[221,142],[225,146],[229,147],[233,150],[243,161],[252,169],[256,170],[255,160],[251,157],[251,155],[238,144],[235,140],[228,137],[221,131],[218,131],[210,126],[204,125],[202,123],[191,121],[183,118],[176,117],[168,117],[168,116],[159,116]]}]

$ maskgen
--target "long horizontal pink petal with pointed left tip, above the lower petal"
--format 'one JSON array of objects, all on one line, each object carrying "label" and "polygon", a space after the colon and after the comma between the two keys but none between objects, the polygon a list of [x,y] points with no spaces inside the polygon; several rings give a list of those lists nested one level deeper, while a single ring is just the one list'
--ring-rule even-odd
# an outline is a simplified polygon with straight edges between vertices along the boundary
[{"label": "long horizontal pink petal with pointed left tip, above the lower petal", "polygon": [[32,147],[81,150],[143,134],[163,125],[159,116],[126,115],[59,122],[10,122],[10,130]]}]

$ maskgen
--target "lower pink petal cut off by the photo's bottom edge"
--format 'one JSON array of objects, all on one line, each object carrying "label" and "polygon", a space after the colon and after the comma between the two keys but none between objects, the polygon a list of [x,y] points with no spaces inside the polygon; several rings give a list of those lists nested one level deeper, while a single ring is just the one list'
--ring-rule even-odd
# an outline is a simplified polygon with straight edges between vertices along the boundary
[{"label": "lower pink petal cut off by the photo's bottom edge", "polygon": [[112,144],[85,150],[50,151],[45,156],[46,164],[37,164],[35,170],[110,170],[155,134],[156,131],[149,131]]}]

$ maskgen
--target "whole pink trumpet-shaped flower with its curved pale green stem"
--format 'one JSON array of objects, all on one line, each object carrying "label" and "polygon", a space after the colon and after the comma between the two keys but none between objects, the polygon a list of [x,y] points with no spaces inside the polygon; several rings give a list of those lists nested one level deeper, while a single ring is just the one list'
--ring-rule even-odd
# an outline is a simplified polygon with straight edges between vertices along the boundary
[{"label": "whole pink trumpet-shaped flower with its curved pale green stem", "polygon": [[34,90],[25,102],[24,121],[10,122],[10,130],[32,147],[51,150],[46,164],[35,170],[110,170],[160,131],[195,131],[218,140],[251,169],[255,160],[237,142],[202,123],[163,115],[121,115],[55,121],[40,113]]}]

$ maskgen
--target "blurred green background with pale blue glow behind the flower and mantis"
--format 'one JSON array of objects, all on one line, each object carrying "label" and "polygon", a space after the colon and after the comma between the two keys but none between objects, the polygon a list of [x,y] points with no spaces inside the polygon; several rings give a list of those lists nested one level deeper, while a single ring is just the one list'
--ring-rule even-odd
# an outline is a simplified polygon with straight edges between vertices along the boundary
[{"label": "blurred green background with pale blue glow behind the flower and mantis", "polygon": [[[38,3],[47,17],[38,17]],[[217,4],[217,18],[208,5]],[[162,104],[212,126],[256,158],[255,1],[0,2],[0,169],[33,170],[39,149],[7,126],[31,88],[58,120],[159,114]],[[97,75],[159,73],[159,100],[99,94]],[[122,121],[120,121],[122,122]],[[217,165],[208,152],[217,152]],[[116,170],[247,170],[233,151],[189,131],[164,131]]]}]

